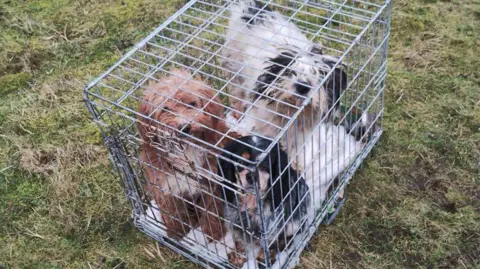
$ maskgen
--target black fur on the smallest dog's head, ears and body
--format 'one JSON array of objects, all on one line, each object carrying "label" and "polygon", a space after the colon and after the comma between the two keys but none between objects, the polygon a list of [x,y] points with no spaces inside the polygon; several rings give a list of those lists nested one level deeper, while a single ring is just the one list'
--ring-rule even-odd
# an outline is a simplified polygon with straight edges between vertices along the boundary
[{"label": "black fur on the smallest dog's head, ears and body", "polygon": [[[244,145],[241,142],[247,145]],[[256,161],[260,157],[261,152],[253,149],[252,147],[265,150],[270,144],[271,140],[268,139],[259,137],[254,139],[253,136],[242,137],[239,139],[239,141],[233,141],[227,145],[225,150],[229,153],[224,153],[222,157],[248,167],[249,164],[241,160],[239,156],[247,156],[245,153],[248,153],[248,156],[250,157],[249,160]],[[237,169],[239,171],[243,171],[244,168],[237,168],[232,162],[222,158],[219,159],[219,175],[225,177],[225,185],[232,189],[236,189],[235,185],[233,184],[239,184],[236,171]],[[285,221],[290,218],[292,214],[294,214],[294,217],[292,218],[293,221],[300,220],[302,216],[306,215],[307,206],[310,203],[309,197],[303,199],[305,195],[308,196],[308,187],[305,180],[303,178],[299,178],[297,171],[291,167],[287,168],[288,162],[288,155],[281,150],[280,146],[277,144],[258,165],[258,169],[255,172],[249,172],[249,176],[247,176],[247,181],[251,181],[249,183],[256,184],[255,181],[258,181],[259,171],[267,172],[269,174],[270,178],[266,189],[267,193],[263,194],[264,199],[262,202],[264,206],[269,205],[271,211],[274,212],[272,213],[273,219],[275,219],[274,216],[283,214],[284,221],[281,223],[281,225],[285,224]],[[223,195],[224,199],[228,202],[226,208],[230,206],[231,208],[235,208],[234,210],[239,210],[238,207],[241,205],[237,204],[237,199],[235,197],[236,194],[233,191],[229,190],[228,188],[224,188]],[[301,199],[303,199],[303,201],[301,201]],[[299,206],[300,202],[302,202],[301,206]],[[295,212],[293,212],[293,210],[295,210]],[[258,214],[258,212],[255,212],[254,214]],[[227,216],[228,221],[234,222],[240,226],[242,223],[253,223],[250,227],[245,228],[259,236],[262,232],[262,227],[260,227],[261,225],[258,223],[255,224],[249,220],[249,218],[252,218],[252,216],[248,215],[247,212],[242,213],[241,216],[237,216],[235,219],[228,220]],[[269,220],[267,220],[267,222],[268,221]]]}]

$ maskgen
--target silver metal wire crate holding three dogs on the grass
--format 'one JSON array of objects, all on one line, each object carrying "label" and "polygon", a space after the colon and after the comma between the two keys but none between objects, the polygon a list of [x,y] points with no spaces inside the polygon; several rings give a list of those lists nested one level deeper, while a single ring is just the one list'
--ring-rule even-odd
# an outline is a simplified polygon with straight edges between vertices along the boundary
[{"label": "silver metal wire crate holding three dogs on the grass", "polygon": [[388,0],[192,0],[88,84],[139,229],[291,268],[382,133]]}]

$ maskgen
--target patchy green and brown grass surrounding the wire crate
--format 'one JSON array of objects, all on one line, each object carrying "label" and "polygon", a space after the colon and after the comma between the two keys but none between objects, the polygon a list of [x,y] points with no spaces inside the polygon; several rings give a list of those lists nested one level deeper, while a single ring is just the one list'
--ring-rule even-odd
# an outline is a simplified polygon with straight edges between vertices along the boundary
[{"label": "patchy green and brown grass surrounding the wire crate", "polygon": [[[480,1],[393,2],[384,136],[299,268],[480,268]],[[197,268],[131,225],[82,103],[183,3],[0,0],[0,268]]]}]

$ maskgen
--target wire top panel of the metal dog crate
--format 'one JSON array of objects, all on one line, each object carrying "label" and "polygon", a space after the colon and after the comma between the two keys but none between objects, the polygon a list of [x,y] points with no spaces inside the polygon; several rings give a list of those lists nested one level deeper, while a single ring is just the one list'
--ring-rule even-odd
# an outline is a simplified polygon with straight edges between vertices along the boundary
[{"label": "wire top panel of the metal dog crate", "polygon": [[[85,98],[97,123],[117,132],[143,123],[175,139],[206,129],[220,138],[204,146],[218,150],[238,133],[259,135],[261,125],[272,130],[273,147],[306,106],[322,107],[322,87],[342,83],[345,53],[387,4],[242,1],[249,4],[190,1],[92,81]],[[249,119],[251,126],[236,126]]]}]

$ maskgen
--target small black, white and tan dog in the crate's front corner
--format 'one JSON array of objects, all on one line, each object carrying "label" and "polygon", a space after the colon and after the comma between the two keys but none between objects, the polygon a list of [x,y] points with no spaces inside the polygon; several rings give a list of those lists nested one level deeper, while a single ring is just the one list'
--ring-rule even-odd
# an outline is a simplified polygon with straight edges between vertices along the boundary
[{"label": "small black, white and tan dog in the crate's front corner", "polygon": [[[248,263],[255,263],[262,235],[268,242],[282,245],[286,243],[282,240],[309,224],[310,196],[305,180],[291,168],[287,153],[278,144],[266,152],[271,144],[257,136],[242,137],[227,145],[228,153],[218,160],[218,173],[227,186],[224,216],[236,244],[246,249]],[[280,262],[281,257],[276,260]]]}]

